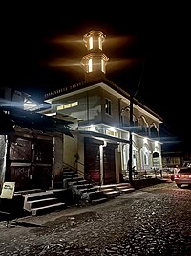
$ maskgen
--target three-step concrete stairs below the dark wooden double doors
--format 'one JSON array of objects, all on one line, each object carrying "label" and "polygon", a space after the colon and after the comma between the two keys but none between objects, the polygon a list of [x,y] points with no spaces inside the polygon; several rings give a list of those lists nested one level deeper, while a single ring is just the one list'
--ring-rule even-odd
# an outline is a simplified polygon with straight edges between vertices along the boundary
[{"label": "three-step concrete stairs below the dark wooden double doors", "polygon": [[24,194],[24,210],[32,215],[42,215],[65,208],[65,203],[53,191],[41,191]]}]

